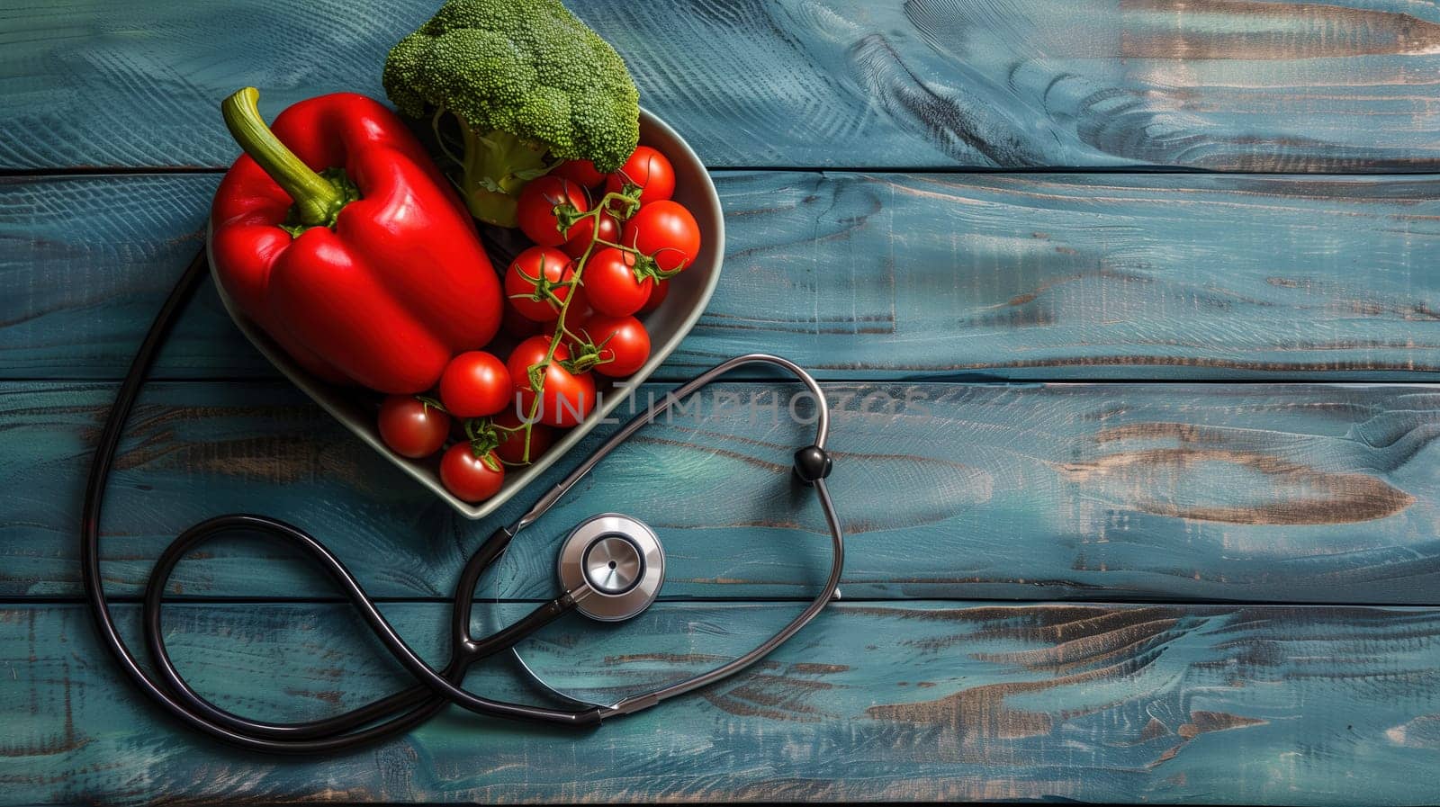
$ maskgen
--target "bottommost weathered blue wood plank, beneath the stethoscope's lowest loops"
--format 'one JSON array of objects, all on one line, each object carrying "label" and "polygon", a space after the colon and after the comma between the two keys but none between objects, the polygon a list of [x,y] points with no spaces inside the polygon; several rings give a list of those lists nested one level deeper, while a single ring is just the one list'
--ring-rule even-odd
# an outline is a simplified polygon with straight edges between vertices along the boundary
[{"label": "bottommost weathered blue wood plank, beneath the stethoscope's lowest loops", "polygon": [[[530,650],[616,696],[744,650],[795,606],[661,604]],[[384,607],[435,655],[438,604]],[[132,624],[135,608],[124,608]],[[1420,608],[841,604],[750,673],[586,734],[446,715],[324,761],[238,754],[160,719],[81,606],[0,610],[3,804],[966,801],[1433,804],[1440,613]],[[397,683],[340,606],[179,606],[200,692],[320,716]],[[504,670],[469,685],[533,696]]]}]

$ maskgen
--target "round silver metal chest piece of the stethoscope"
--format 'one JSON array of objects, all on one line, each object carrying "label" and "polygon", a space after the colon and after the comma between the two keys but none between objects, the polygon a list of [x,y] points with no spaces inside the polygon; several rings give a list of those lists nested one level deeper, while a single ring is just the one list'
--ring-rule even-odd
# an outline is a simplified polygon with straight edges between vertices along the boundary
[{"label": "round silver metal chest piece of the stethoscope", "polygon": [[665,552],[655,532],[619,514],[592,516],[570,531],[557,567],[576,610],[600,621],[639,614],[665,581]]}]

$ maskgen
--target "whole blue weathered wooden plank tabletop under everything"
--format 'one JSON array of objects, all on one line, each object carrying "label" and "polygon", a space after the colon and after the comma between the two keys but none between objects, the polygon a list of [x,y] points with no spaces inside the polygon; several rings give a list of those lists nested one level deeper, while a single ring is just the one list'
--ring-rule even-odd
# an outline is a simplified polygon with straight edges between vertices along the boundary
[{"label": "whole blue weathered wooden plank tabletop under everything", "polygon": [[[572,6],[727,214],[720,288],[654,388],[752,350],[824,378],[845,601],[753,672],[588,734],[448,713],[276,760],[156,716],[98,655],[78,511],[235,157],[216,104],[383,96],[383,53],[433,1],[9,0],[0,804],[1440,801],[1440,9]],[[213,289],[157,377],[104,524],[127,629],[177,529],[261,511],[444,652],[484,525],[282,383]],[[550,629],[527,653],[557,683],[634,690],[788,620],[827,538],[786,482],[804,429],[750,413],[789,388],[727,381],[740,406],[626,446],[526,535],[480,619],[547,596],[564,526],[624,509],[667,541],[664,601]],[[197,554],[171,596],[177,663],[228,708],[321,716],[402,680],[272,547]],[[513,673],[469,683],[527,695]]]}]

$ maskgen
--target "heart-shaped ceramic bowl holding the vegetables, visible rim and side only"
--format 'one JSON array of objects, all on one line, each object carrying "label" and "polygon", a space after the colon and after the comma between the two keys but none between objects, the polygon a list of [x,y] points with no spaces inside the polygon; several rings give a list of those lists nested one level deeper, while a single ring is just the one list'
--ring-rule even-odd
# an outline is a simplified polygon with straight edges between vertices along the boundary
[{"label": "heart-shaped ceramic bowl holding the vegetables, visible rim and side only", "polygon": [[[613,387],[605,390],[603,397],[599,398],[600,406],[583,423],[564,432],[556,440],[554,446],[536,462],[524,468],[505,469],[505,482],[500,488],[500,492],[478,505],[467,503],[445,489],[439,476],[439,455],[413,460],[386,447],[376,427],[377,396],[354,387],[327,384],[315,378],[295,364],[274,339],[245,318],[235,308],[235,302],[225,293],[225,286],[215,278],[213,255],[210,256],[210,273],[216,281],[215,286],[220,292],[220,301],[225,304],[225,311],[229,312],[230,319],[235,321],[235,325],[245,334],[251,344],[285,374],[287,378],[304,390],[305,394],[314,398],[315,403],[340,420],[340,423],[344,423],[361,440],[433,491],[436,496],[449,502],[464,516],[485,518],[544,473],[547,468],[579,443],[596,424],[605,421],[615,407],[631,398],[631,393],[649,378],[651,373],[674,352],[680,341],[696,325],[700,314],[704,312],[706,305],[710,302],[710,295],[714,293],[716,283],[720,282],[720,259],[724,256],[724,217],[720,210],[720,196],[716,193],[714,183],[710,181],[710,174],[690,145],[685,144],[684,138],[675,134],[664,121],[644,109],[639,114],[639,141],[657,148],[674,165],[674,199],[688,207],[696,216],[696,223],[700,224],[700,256],[684,272],[667,281],[670,283],[670,296],[665,298],[665,302],[657,311],[644,316],[651,341],[649,361],[629,378],[621,380]],[[638,401],[641,397],[635,396],[635,400]]]}]

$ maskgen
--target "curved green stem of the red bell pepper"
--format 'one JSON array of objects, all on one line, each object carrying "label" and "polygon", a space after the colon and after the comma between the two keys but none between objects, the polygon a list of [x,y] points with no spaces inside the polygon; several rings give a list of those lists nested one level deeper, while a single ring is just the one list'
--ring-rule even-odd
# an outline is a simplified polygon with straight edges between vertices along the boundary
[{"label": "curved green stem of the red bell pepper", "polygon": [[220,102],[225,127],[266,174],[295,201],[301,224],[320,227],[333,224],[346,206],[346,196],[334,184],[317,174],[285,147],[261,118],[261,91],[253,86],[235,91]]}]

